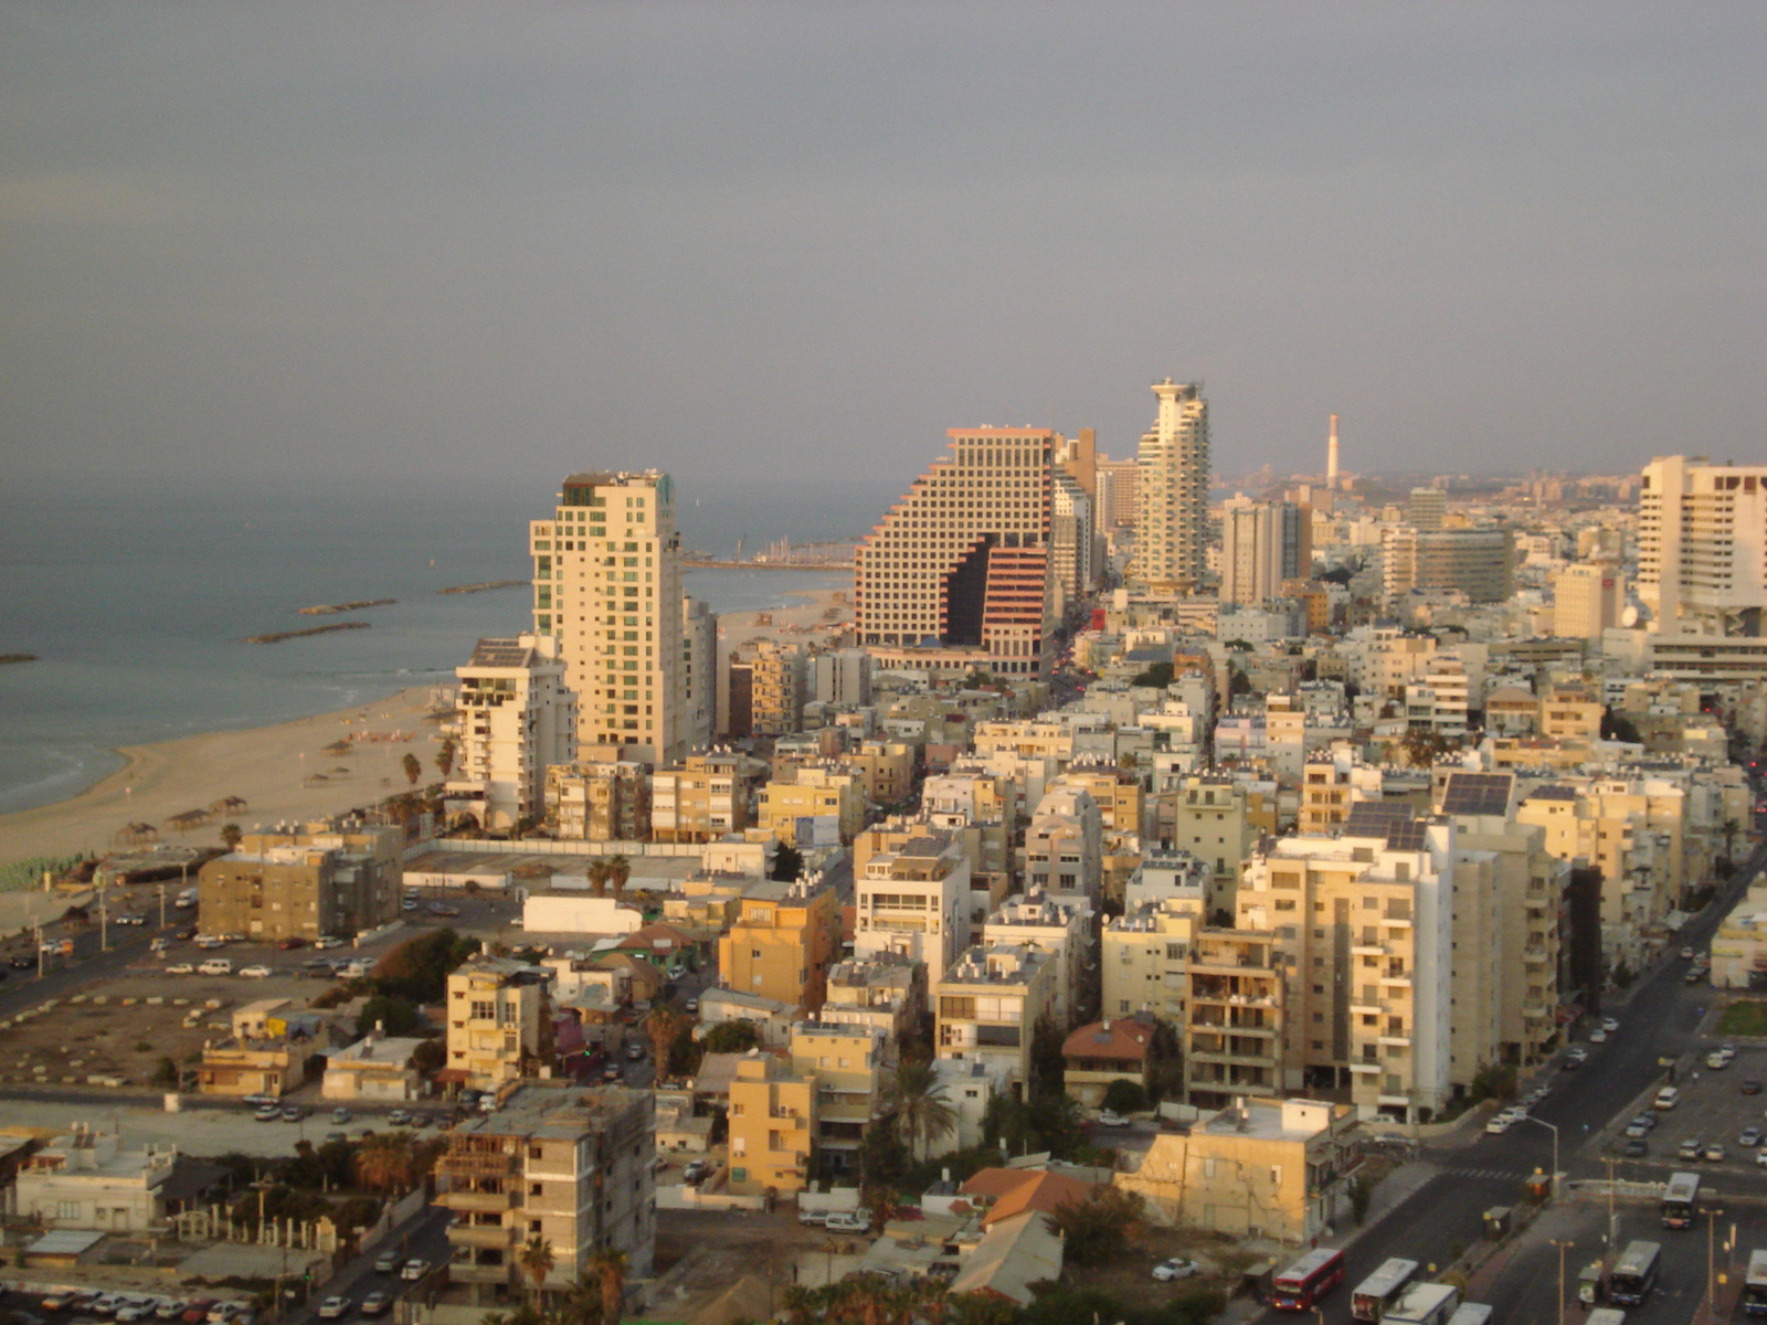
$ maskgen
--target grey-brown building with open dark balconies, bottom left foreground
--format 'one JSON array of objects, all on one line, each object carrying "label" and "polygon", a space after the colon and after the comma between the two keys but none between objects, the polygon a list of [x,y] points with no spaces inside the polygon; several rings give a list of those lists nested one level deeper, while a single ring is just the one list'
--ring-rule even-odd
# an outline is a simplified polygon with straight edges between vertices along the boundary
[{"label": "grey-brown building with open dark balconies, bottom left foreground", "polygon": [[525,1297],[521,1247],[553,1265],[542,1291],[592,1277],[597,1253],[648,1279],[656,1254],[656,1115],[648,1090],[528,1081],[495,1113],[458,1124],[436,1157],[433,1203],[449,1210],[449,1283],[472,1306]]}]

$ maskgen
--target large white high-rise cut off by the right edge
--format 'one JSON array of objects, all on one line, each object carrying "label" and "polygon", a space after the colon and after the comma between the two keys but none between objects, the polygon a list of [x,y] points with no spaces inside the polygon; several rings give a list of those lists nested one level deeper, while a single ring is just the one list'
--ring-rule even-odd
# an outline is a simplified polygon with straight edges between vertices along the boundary
[{"label": "large white high-rise cut off by the right edge", "polygon": [[1645,465],[1638,597],[1656,634],[1763,634],[1767,465],[1712,465],[1705,456]]}]

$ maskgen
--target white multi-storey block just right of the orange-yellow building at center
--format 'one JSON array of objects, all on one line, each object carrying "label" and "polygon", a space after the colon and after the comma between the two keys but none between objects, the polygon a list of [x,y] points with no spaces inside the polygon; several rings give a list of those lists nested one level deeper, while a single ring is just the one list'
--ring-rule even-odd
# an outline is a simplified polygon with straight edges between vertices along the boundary
[{"label": "white multi-storey block just right of the orange-yellow building at center", "polygon": [[928,986],[970,936],[970,862],[949,836],[871,855],[853,880],[853,956],[896,952],[926,965]]}]

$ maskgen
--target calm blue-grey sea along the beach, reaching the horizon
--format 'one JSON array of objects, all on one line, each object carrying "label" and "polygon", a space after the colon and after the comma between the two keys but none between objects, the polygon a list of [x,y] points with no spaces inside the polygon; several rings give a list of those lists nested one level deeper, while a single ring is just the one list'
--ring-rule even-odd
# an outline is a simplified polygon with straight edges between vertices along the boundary
[{"label": "calm blue-grey sea along the beach, reaching the horizon", "polygon": [[[682,498],[684,542],[730,555],[737,537],[857,537],[875,498],[721,505]],[[120,767],[117,746],[263,726],[449,680],[481,636],[528,625],[527,521],[514,502],[406,493],[262,496],[0,496],[0,813],[62,800]],[[694,571],[714,611],[783,606],[850,574]],[[398,599],[348,617],[299,608]],[[329,620],[373,622],[277,645],[244,638]]]}]

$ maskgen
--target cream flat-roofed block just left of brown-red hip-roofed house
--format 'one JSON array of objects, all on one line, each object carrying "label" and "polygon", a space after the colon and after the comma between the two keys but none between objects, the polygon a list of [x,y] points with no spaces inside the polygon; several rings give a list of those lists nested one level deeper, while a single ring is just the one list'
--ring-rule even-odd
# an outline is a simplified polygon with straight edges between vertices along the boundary
[{"label": "cream flat-roofed block just left of brown-red hip-roofed house", "polygon": [[972,947],[933,982],[940,1058],[982,1064],[990,1076],[1030,1081],[1030,1041],[1050,1012],[1053,963],[1039,950]]}]

